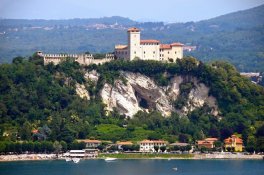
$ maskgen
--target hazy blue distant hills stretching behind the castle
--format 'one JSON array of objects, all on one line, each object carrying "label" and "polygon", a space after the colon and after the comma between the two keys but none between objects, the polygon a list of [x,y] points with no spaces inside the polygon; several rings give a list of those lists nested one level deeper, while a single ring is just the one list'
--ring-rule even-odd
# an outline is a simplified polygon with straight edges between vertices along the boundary
[{"label": "hazy blue distant hills stretching behind the castle", "polygon": [[228,60],[240,71],[264,71],[264,5],[209,20],[165,24],[139,23],[123,17],[69,20],[0,20],[0,63],[13,57],[46,53],[112,52],[126,43],[128,27],[142,38],[197,46],[187,52],[202,61]]}]

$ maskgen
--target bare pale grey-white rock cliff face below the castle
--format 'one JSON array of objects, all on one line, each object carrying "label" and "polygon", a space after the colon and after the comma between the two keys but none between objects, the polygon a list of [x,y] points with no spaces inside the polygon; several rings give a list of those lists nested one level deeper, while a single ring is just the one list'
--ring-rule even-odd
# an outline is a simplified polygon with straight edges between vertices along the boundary
[{"label": "bare pale grey-white rock cliff face below the castle", "polygon": [[[88,72],[85,78],[96,83],[99,76],[97,72],[92,71]],[[216,99],[209,96],[209,88],[195,77],[175,76],[167,86],[160,87],[153,79],[139,73],[121,72],[121,76],[122,80],[115,80],[113,85],[105,83],[100,90],[100,96],[107,111],[116,108],[120,114],[133,117],[140,110],[147,112],[157,110],[166,117],[170,116],[171,112],[187,115],[207,105],[212,109],[213,115],[218,115]],[[173,104],[181,94],[180,85],[187,82],[192,83],[193,87],[187,96],[185,105],[176,109]]]}]

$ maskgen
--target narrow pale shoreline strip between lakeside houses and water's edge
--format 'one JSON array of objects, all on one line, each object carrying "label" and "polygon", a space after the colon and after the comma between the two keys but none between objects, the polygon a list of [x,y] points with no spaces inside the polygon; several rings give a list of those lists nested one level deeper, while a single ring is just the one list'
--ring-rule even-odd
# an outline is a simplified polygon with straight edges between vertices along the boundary
[{"label": "narrow pale shoreline strip between lakeside houses and water's edge", "polygon": [[[99,156],[95,159],[84,160],[100,160],[106,157],[112,157],[124,160],[263,160],[263,155],[253,154],[253,155],[243,155],[243,154],[190,154],[186,156],[167,156],[162,157],[159,155],[155,157],[141,157],[140,155],[135,155],[135,157],[129,157],[126,154],[103,154],[104,156]],[[120,157],[122,155],[122,157]],[[136,157],[138,156],[138,157]],[[41,161],[41,160],[63,160],[64,158],[57,158],[56,154],[12,154],[12,155],[0,155],[0,162],[13,162],[13,161]]]}]

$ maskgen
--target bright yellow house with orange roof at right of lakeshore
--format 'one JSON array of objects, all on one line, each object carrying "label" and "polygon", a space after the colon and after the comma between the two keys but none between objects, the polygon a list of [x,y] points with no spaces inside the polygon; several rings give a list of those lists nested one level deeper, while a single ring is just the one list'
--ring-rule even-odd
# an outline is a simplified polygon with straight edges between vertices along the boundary
[{"label": "bright yellow house with orange roof at right of lakeshore", "polygon": [[232,135],[224,140],[225,142],[225,150],[233,149],[235,152],[241,152],[243,149],[243,140],[237,137],[236,135]]}]

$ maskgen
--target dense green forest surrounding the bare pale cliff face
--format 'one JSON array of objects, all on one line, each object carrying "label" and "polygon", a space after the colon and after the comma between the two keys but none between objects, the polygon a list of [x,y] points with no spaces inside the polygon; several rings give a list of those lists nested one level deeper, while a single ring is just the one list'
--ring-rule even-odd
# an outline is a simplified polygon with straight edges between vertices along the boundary
[{"label": "dense green forest surrounding the bare pale cliff face", "polygon": [[[90,70],[100,73],[97,85],[84,78]],[[172,113],[165,118],[157,111],[140,111],[133,118],[115,110],[107,115],[97,94],[105,82],[113,84],[122,79],[121,70],[147,75],[158,85],[166,85],[174,75],[197,77],[210,87],[221,117],[211,115],[207,106],[185,117]],[[93,98],[81,99],[75,91],[77,82],[87,85]],[[204,64],[187,57],[171,64],[138,60],[82,67],[71,60],[43,66],[37,55],[29,59],[16,57],[12,64],[0,65],[0,92],[0,148],[9,141],[29,141],[26,143],[31,147],[58,141],[65,149],[76,148],[83,145],[78,145],[75,139],[85,138],[194,143],[205,137],[223,140],[237,133],[247,149],[264,150],[264,89],[241,77],[226,62]],[[183,97],[187,92],[188,85],[182,86]],[[184,98],[175,106],[181,103]],[[32,133],[34,130],[38,132]]]}]

